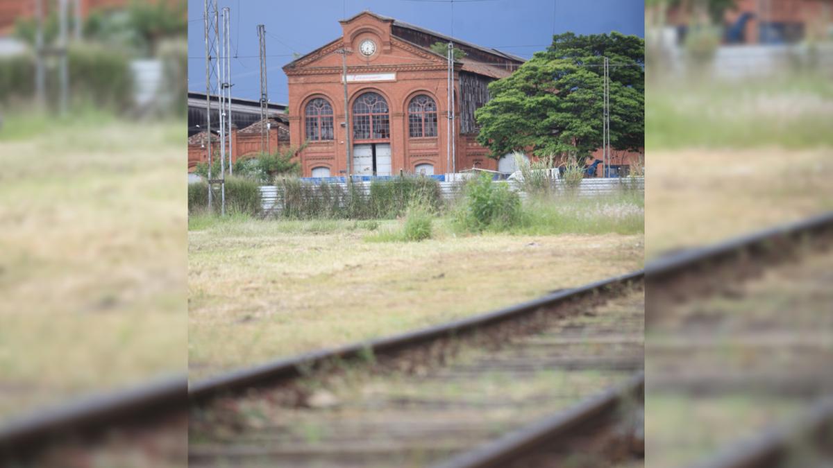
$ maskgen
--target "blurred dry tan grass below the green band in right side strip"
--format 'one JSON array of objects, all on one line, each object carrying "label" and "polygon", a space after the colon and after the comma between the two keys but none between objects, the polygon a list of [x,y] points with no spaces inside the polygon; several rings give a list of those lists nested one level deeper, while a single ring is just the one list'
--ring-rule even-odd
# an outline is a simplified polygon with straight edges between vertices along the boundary
[{"label": "blurred dry tan grass below the green band in right side strip", "polygon": [[833,210],[833,149],[649,152],[646,257]]}]

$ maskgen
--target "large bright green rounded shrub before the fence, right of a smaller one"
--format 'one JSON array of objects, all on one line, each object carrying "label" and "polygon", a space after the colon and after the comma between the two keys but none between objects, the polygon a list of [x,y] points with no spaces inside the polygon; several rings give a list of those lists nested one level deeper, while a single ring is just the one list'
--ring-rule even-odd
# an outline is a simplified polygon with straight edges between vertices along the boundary
[{"label": "large bright green rounded shrub before the fence, right of a smaller one", "polygon": [[521,222],[521,197],[507,184],[491,182],[488,174],[467,182],[464,194],[455,221],[466,231],[504,231]]}]

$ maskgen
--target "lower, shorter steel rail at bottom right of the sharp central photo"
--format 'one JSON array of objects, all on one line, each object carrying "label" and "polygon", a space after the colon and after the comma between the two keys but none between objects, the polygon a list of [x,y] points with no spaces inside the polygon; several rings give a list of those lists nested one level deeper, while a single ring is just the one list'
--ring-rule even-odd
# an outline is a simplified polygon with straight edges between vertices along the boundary
[{"label": "lower, shorter steel rail at bottom right of the sharp central photo", "polygon": [[614,419],[616,408],[621,401],[636,397],[642,399],[645,388],[645,375],[639,373],[626,384],[611,388],[599,395],[591,396],[572,406],[566,411],[535,421],[528,426],[512,431],[494,441],[486,442],[471,451],[463,452],[443,461],[434,468],[497,468],[512,461],[534,453],[536,450],[551,447],[558,439],[569,437],[578,427],[596,425],[605,426],[606,421]]}]

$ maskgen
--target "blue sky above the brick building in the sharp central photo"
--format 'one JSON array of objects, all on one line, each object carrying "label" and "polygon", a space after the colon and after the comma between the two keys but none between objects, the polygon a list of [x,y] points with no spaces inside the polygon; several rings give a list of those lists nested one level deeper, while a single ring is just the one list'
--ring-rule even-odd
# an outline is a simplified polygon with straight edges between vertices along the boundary
[{"label": "blue sky above the brick building in the sharp central photo", "polygon": [[[370,10],[521,57],[543,50],[553,32],[618,31],[643,37],[643,0],[218,0],[231,8],[232,96],[260,98],[257,24],[267,32],[269,101],[287,102],[282,66],[340,37],[338,20]],[[203,0],[188,0],[188,89],[205,92]],[[222,20],[221,20],[222,21]],[[222,23],[221,23],[222,24]]]}]

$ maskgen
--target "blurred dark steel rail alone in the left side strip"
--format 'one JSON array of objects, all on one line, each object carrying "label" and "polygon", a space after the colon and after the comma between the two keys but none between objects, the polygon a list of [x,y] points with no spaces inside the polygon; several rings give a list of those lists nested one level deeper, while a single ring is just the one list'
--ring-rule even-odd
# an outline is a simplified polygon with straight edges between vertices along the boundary
[{"label": "blurred dark steel rail alone in the left side strip", "polygon": [[[152,421],[187,408],[187,376],[167,376],[125,390],[84,396],[0,426],[0,461],[32,455],[61,436],[84,436],[130,421]],[[0,463],[2,465],[2,463]]]}]

